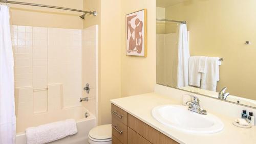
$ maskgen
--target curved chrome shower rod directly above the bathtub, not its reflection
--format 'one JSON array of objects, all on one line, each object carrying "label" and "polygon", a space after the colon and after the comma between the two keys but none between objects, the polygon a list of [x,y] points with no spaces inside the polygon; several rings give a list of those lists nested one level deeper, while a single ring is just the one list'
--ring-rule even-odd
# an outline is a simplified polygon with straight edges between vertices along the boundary
[{"label": "curved chrome shower rod directly above the bathtub, not its reflection", "polygon": [[2,1],[2,0],[0,0],[0,3],[18,4],[18,5],[27,5],[27,6],[36,6],[36,7],[45,7],[45,8],[53,8],[53,9],[61,9],[61,10],[82,12],[82,13],[84,13],[83,15],[80,16],[82,19],[84,19],[84,15],[86,15],[87,13],[88,14],[93,14],[94,16],[97,15],[96,11],[83,11],[83,10],[56,7],[56,6],[50,6],[50,5],[32,4],[32,3],[15,2],[15,1]]}]

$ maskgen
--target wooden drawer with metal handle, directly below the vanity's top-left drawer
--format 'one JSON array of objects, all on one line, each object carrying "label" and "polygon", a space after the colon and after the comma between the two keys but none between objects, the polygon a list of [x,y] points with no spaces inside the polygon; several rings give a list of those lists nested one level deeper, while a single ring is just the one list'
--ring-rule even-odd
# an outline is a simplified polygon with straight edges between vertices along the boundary
[{"label": "wooden drawer with metal handle, directly below the vanity's top-left drawer", "polygon": [[112,134],[122,143],[127,143],[128,127],[112,117]]}]

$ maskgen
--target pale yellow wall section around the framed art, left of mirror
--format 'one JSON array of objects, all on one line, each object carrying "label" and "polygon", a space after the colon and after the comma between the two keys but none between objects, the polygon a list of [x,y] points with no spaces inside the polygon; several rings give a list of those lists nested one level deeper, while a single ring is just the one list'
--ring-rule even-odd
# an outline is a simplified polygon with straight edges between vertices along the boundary
[{"label": "pale yellow wall section around the framed art, left of mirror", "polygon": [[[147,57],[125,53],[125,15],[147,9]],[[156,1],[122,0],[121,7],[121,95],[152,92],[156,84]]]}]

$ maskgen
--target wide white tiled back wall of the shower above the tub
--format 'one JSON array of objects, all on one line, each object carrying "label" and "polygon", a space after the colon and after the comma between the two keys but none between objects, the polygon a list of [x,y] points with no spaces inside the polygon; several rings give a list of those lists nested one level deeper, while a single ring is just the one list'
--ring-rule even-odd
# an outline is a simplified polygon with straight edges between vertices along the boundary
[{"label": "wide white tiled back wall of the shower above the tub", "polygon": [[80,106],[81,30],[12,26],[16,115]]}]

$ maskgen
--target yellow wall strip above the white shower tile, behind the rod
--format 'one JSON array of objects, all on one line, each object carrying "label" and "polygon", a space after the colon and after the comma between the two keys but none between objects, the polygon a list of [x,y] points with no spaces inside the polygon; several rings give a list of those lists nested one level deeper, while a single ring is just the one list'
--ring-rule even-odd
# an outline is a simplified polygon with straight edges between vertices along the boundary
[{"label": "yellow wall strip above the white shower tile, behind the rod", "polygon": [[[20,2],[83,10],[83,0],[20,0]],[[14,4],[10,4],[10,7],[13,25],[70,29],[83,28],[83,20],[79,17],[82,14],[80,12]]]}]

